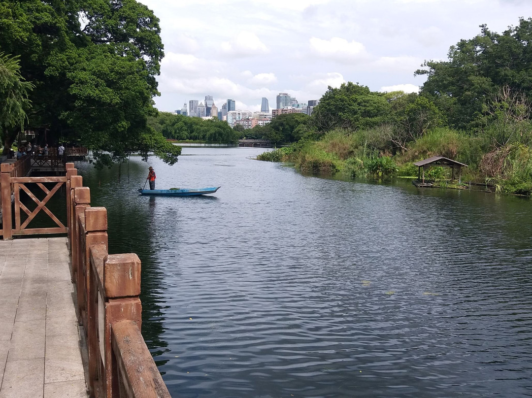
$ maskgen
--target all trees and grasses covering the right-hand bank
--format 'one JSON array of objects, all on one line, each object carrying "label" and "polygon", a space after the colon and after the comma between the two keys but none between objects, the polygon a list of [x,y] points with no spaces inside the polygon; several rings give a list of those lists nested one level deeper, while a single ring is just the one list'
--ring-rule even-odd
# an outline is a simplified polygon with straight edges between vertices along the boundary
[{"label": "all trees and grasses covering the right-hand bank", "polygon": [[[380,180],[417,177],[413,162],[445,156],[469,165],[462,180],[530,195],[531,39],[532,19],[502,34],[483,25],[451,47],[448,61],[427,61],[415,72],[428,77],[419,94],[371,92],[352,82],[329,87],[312,116],[292,127],[299,141],[259,159]],[[448,168],[426,176],[464,186],[450,181]]]}]

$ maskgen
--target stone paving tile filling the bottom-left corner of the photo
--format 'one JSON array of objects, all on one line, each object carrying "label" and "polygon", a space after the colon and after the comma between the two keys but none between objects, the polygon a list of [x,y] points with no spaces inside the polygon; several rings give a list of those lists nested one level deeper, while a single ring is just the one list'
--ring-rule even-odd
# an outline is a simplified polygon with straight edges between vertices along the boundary
[{"label": "stone paving tile filling the bottom-left corner of the photo", "polygon": [[4,371],[0,398],[41,398],[44,391],[44,358],[11,361]]}]

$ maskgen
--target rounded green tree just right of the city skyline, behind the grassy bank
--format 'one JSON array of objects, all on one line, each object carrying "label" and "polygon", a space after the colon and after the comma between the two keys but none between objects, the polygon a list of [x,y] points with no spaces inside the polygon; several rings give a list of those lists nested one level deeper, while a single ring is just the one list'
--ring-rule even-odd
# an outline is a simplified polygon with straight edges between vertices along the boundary
[{"label": "rounded green tree just right of the city skyline, behind the grassy bank", "polygon": [[311,123],[319,131],[335,127],[365,129],[386,123],[389,111],[390,105],[383,94],[347,82],[339,88],[328,87],[312,112]]}]

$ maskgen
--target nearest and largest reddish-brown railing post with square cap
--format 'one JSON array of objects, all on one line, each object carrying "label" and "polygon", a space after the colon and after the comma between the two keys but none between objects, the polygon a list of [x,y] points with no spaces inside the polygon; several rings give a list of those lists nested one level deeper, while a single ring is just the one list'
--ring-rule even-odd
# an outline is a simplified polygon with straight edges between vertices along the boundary
[{"label": "nearest and largest reddish-brown railing post with square cap", "polygon": [[112,352],[111,326],[116,322],[129,320],[136,322],[140,328],[142,305],[138,298],[140,295],[138,256],[134,253],[108,255],[103,267],[103,288],[105,293],[105,394],[107,397],[115,397],[119,394],[120,383],[116,371],[116,360]]}]

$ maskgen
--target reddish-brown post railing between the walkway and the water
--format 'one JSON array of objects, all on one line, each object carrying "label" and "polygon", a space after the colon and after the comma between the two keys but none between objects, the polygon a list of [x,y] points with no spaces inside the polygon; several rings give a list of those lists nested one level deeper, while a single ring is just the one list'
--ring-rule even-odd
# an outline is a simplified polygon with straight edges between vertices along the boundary
[{"label": "reddish-brown post railing between the walkway and the water", "polygon": [[90,189],[82,186],[73,163],[66,164],[66,176],[72,280],[87,337],[89,394],[169,398],[140,333],[140,260],[134,253],[109,254],[107,210],[90,206]]}]

